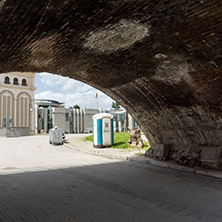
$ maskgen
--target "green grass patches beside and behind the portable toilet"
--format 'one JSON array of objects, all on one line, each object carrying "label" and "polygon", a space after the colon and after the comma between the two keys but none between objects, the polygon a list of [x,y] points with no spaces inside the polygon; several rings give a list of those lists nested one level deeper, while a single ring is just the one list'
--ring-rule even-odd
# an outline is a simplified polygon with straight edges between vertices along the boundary
[{"label": "green grass patches beside and behind the portable toilet", "polygon": [[[114,133],[114,145],[110,148],[132,149],[133,147],[128,145],[128,139],[129,139],[129,132]],[[84,141],[93,142],[93,136],[91,135],[85,137]],[[149,148],[148,144],[144,143],[144,147],[142,149],[147,150],[148,148]]]}]

